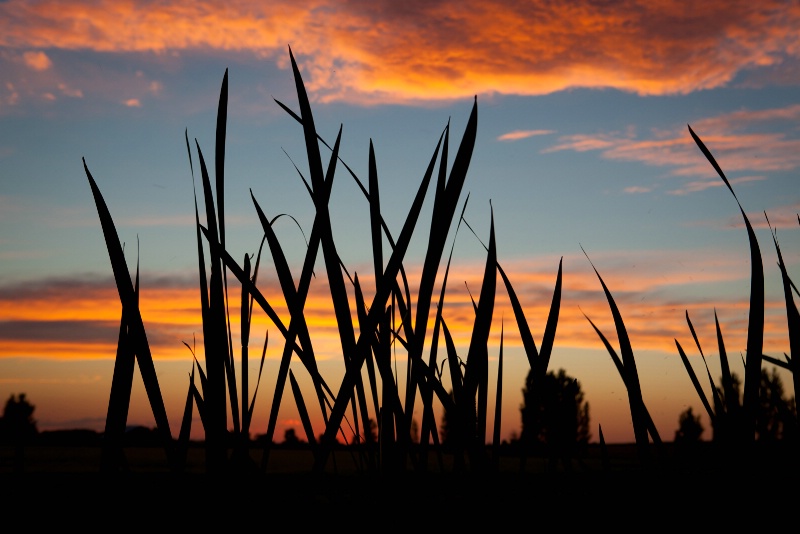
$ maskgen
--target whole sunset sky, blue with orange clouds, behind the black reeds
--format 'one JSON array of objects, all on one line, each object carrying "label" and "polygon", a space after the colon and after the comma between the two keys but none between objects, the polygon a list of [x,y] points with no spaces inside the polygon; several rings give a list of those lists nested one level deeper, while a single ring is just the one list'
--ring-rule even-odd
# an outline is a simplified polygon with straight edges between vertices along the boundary
[{"label": "whole sunset sky, blue with orange clouds, behind the black reeds", "polygon": [[[132,270],[138,258],[142,316],[177,434],[192,369],[187,345],[202,361],[185,135],[213,159],[227,69],[228,250],[238,260],[258,250],[252,192],[268,216],[297,221],[284,217],[275,228],[299,276],[314,212],[294,167],[307,166],[302,129],[275,102],[298,110],[291,47],[320,135],[332,142],[342,127],[341,157],[364,181],[373,143],[395,235],[440,134],[449,121],[452,162],[477,98],[477,140],[459,204],[460,211],[469,193],[465,219],[477,237],[462,225],[454,238],[454,225],[446,249],[454,247],[445,319],[459,353],[466,356],[470,292],[478,298],[486,261],[479,238],[488,242],[493,214],[498,262],[537,346],[563,258],[550,368],[581,383],[592,439],[598,425],[607,442],[633,441],[633,429],[622,380],[586,320],[619,346],[589,258],[629,331],[645,403],[662,438],[672,439],[683,410],[703,411],[675,347],[677,340],[706,376],[686,313],[716,379],[716,311],[742,376],[750,295],[742,216],[687,125],[756,228],[764,353],[789,351],[765,213],[796,275],[798,27],[800,3],[774,0],[0,1],[0,400],[26,393],[40,430],[103,429],[121,306],[85,158]],[[192,157],[197,169],[194,150]],[[369,208],[347,174],[336,176],[334,238],[344,264],[368,285]],[[405,262],[412,286],[430,207],[428,199]],[[437,294],[440,283],[441,274]],[[259,287],[282,302],[266,260]],[[508,297],[502,288],[497,295],[490,381],[502,328],[508,439],[519,433],[529,367]],[[321,372],[338,384],[343,364],[329,300],[320,254],[306,316]],[[251,347],[270,333],[253,423],[253,433],[263,433],[282,345],[265,317],[254,321]],[[236,330],[235,317],[232,324]],[[398,357],[398,368],[404,364]],[[304,372],[297,362],[292,369],[298,378]],[[287,428],[301,430],[290,395],[282,406],[278,439]],[[129,423],[154,425],[138,376]],[[704,413],[702,424],[710,439]],[[202,437],[199,419],[194,429]]]}]

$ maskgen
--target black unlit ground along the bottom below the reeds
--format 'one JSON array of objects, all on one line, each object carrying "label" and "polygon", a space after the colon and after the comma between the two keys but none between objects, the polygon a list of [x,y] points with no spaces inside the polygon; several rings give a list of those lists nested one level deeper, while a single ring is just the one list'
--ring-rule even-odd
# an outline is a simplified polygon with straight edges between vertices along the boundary
[{"label": "black unlit ground along the bottom below the reeds", "polygon": [[610,446],[571,470],[541,458],[520,469],[519,457],[504,456],[496,471],[454,472],[445,458],[444,470],[434,461],[428,473],[394,475],[359,472],[342,451],[336,472],[311,473],[308,451],[274,450],[266,473],[215,476],[203,472],[200,448],[183,474],[168,472],[159,449],[128,449],[128,471],[111,475],[99,472],[96,448],[31,447],[24,472],[12,452],[0,450],[0,510],[31,527],[777,528],[797,525],[800,499],[800,454],[786,447],[733,458],[669,450],[643,466],[635,448]]}]

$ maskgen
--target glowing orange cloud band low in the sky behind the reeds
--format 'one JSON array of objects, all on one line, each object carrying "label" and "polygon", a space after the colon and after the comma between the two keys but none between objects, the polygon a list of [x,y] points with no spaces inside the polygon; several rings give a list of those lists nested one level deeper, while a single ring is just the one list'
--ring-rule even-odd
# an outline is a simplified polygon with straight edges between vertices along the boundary
[{"label": "glowing orange cloud band low in the sky behind the reeds", "polygon": [[[653,262],[657,263],[657,259]],[[647,263],[647,260],[643,260]],[[479,287],[482,270],[476,265],[454,269],[451,280],[467,280],[470,287]],[[542,270],[529,271],[530,268]],[[736,280],[743,273],[717,265],[716,270],[706,273],[704,269],[689,273],[656,272],[652,276],[636,269],[627,275],[621,270],[607,269],[604,279],[609,285],[618,306],[620,307],[626,328],[630,335],[634,350],[661,351],[675,353],[674,340],[678,339],[687,350],[695,352],[685,321],[685,313],[690,317],[698,331],[705,352],[716,351],[716,336],[713,327],[713,310],[716,307],[720,317],[723,335],[729,352],[743,350],[746,345],[747,310],[749,295],[746,292],[734,298],[728,297],[722,302],[677,303],[675,299],[660,296],[660,288],[691,287],[696,284],[721,280]],[[470,268],[472,270],[470,271]],[[538,344],[544,331],[545,322],[550,310],[555,269],[552,266],[523,265],[509,262],[505,267],[509,278],[516,288],[534,340]],[[412,273],[413,276],[413,273]],[[698,276],[698,279],[695,278]],[[653,282],[655,280],[655,283]],[[365,288],[369,280],[364,280]],[[63,288],[62,288],[63,289]],[[268,293],[270,293],[268,291]],[[275,294],[274,291],[271,292]],[[644,298],[647,297],[647,298]],[[289,315],[282,299],[268,297],[270,303],[278,311],[284,325],[288,325]],[[413,298],[413,289],[412,289]],[[498,276],[498,288],[495,297],[493,325],[489,339],[490,354],[499,347],[501,326],[505,331],[506,347],[521,346],[516,319],[506,294],[502,280]],[[780,300],[767,301],[766,320],[764,325],[765,353],[780,355],[787,350],[788,336],[785,319],[785,304]],[[184,342],[190,346],[196,342],[197,356],[202,356],[202,322],[199,313],[199,296],[195,288],[150,288],[143,291],[140,309],[145,322],[151,352],[156,359],[184,359],[191,357]],[[231,329],[233,333],[234,353],[239,352],[239,305],[235,300],[231,304]],[[351,303],[351,309],[354,305]],[[56,334],[47,336],[23,334],[6,334],[0,338],[0,358],[26,356],[44,358],[113,358],[116,352],[117,331],[119,328],[121,306],[113,288],[86,291],[70,291],[63,289],[60,294],[49,292],[47,298],[33,293],[21,295],[13,300],[0,299],[0,322],[18,321],[31,328],[40,328],[47,332],[48,324],[68,321],[69,334],[72,337],[59,339]],[[602,293],[596,275],[589,269],[582,272],[567,272],[564,275],[561,313],[558,320],[555,350],[561,348],[598,349],[602,344],[591,325],[584,317],[588,316],[612,341],[616,343],[614,329],[608,303]],[[341,342],[338,328],[332,312],[330,296],[323,283],[312,288],[305,307],[305,317],[309,325],[314,351],[321,360],[341,358]],[[474,322],[472,301],[466,289],[460,284],[451,282],[446,292],[444,317],[460,350],[466,352]],[[433,330],[435,313],[431,311],[428,318],[428,344]],[[38,325],[38,326],[35,326]],[[86,326],[81,326],[86,325]],[[358,333],[358,320],[353,311],[353,325]],[[99,329],[95,332],[92,328]],[[86,329],[85,335],[78,333]],[[278,357],[283,347],[283,340],[277,328],[266,314],[254,307],[251,338],[251,353],[260,352],[265,334],[270,333],[268,357]],[[98,336],[103,337],[98,337]],[[196,341],[195,341],[196,340]]]}]

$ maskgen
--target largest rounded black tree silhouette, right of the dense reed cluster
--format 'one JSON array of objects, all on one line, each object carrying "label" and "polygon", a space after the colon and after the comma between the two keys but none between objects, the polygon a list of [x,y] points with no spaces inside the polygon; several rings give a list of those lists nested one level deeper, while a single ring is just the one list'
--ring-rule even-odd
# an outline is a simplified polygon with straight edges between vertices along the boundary
[{"label": "largest rounded black tree silhouette, right of the dense reed cluster", "polygon": [[[533,387],[533,371],[522,389],[522,444],[551,459],[566,460],[585,446],[589,433],[589,403],[578,380],[564,369],[550,371],[539,390]],[[568,464],[567,464],[568,465]]]}]

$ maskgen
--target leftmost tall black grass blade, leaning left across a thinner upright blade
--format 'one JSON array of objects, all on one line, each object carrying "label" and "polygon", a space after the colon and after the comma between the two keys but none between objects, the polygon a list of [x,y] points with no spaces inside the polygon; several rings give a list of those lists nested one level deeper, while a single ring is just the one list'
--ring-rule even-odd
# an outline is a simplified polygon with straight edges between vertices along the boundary
[{"label": "leftmost tall black grass blade, leaning left across a thinner upright blade", "polygon": [[89,172],[89,168],[86,166],[86,160],[83,160],[83,169],[89,180],[89,186],[92,189],[95,206],[97,207],[97,214],[100,218],[100,225],[103,229],[103,236],[111,261],[111,268],[114,272],[117,292],[119,293],[119,298],[122,303],[123,317],[128,325],[131,347],[139,363],[139,371],[142,375],[142,381],[144,382],[150,407],[153,410],[156,427],[161,437],[164,450],[170,466],[174,468],[172,433],[169,429],[167,411],[164,408],[164,400],[161,397],[161,389],[159,388],[158,376],[156,375],[155,366],[153,365],[150,344],[147,341],[147,334],[145,333],[144,323],[142,322],[142,316],[137,304],[137,297],[134,292],[133,283],[131,282],[131,275],[128,271],[128,265],[125,262],[125,255],[122,252],[122,246],[120,245],[111,213],[103,199],[103,195],[100,193],[100,189],[97,187],[97,183]]}]

